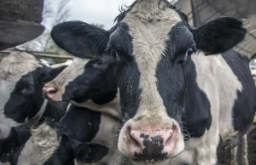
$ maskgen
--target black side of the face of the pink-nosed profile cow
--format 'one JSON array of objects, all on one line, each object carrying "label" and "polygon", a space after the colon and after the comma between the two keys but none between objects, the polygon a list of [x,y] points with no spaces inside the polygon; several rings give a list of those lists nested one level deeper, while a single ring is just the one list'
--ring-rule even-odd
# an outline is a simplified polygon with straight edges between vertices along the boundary
[{"label": "black side of the face of the pink-nosed profile cow", "polygon": [[84,73],[67,84],[62,100],[93,100],[99,105],[113,100],[117,94],[117,80],[112,60],[107,54],[90,60],[84,65]]}]

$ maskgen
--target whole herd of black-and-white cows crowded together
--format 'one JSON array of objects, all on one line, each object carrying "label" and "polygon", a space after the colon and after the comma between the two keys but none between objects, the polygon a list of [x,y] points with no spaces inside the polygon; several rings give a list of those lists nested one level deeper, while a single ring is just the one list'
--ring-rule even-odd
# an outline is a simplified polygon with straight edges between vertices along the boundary
[{"label": "whole herd of black-and-white cows crowded together", "polygon": [[137,0],[109,31],[55,26],[52,39],[79,58],[49,65],[14,52],[0,63],[0,161],[216,165],[229,145],[246,165],[235,149],[256,88],[247,56],[230,49],[245,34],[229,17],[189,26],[166,0]]}]

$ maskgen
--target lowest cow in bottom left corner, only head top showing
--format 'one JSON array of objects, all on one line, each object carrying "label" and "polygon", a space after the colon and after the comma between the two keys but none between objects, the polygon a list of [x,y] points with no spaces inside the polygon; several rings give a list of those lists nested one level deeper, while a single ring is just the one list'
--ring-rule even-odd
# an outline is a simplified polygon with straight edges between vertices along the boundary
[{"label": "lowest cow in bottom left corner, only head top showing", "polygon": [[9,165],[74,165],[73,161],[93,163],[102,159],[108,148],[73,139],[60,122],[44,122],[38,128],[12,128],[1,142]]}]

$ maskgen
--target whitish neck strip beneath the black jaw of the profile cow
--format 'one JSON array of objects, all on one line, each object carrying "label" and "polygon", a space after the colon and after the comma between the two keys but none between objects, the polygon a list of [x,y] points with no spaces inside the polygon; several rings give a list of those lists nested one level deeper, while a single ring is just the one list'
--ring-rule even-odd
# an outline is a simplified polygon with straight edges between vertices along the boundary
[{"label": "whitish neck strip beneath the black jaw of the profile cow", "polygon": [[111,117],[121,119],[119,90],[118,90],[116,96],[114,97],[114,99],[109,101],[106,104],[99,105],[99,104],[96,104],[93,100],[88,100],[88,101],[82,102],[82,103],[77,103],[75,101],[70,101],[70,102],[73,105],[88,108],[92,111],[99,111],[102,113],[106,113],[106,114],[110,115]]}]

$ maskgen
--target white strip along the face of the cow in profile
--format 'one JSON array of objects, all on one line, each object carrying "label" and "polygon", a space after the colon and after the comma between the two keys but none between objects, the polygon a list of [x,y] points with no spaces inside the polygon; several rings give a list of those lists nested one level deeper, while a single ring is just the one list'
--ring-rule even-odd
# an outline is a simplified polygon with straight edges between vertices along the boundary
[{"label": "white strip along the face of the cow in profile", "polygon": [[[74,58],[73,62],[69,64],[61,73],[55,77],[48,84],[53,84],[61,88],[61,94],[65,93],[65,87],[68,83],[73,82],[73,80],[84,73],[84,66],[89,62],[89,60],[81,60]],[[60,95],[61,97],[61,95]],[[61,100],[61,98],[59,98]]]}]

